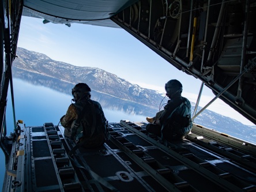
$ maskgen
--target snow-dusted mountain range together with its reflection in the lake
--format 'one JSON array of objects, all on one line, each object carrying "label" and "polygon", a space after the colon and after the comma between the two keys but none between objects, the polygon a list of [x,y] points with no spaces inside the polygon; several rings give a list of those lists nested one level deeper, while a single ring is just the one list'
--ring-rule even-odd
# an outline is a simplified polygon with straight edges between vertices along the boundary
[{"label": "snow-dusted mountain range together with its reflection in the lake", "polygon": [[[16,55],[12,68],[14,78],[67,94],[70,94],[70,90],[78,82],[86,82],[92,89],[92,99],[110,110],[154,116],[164,97],[163,93],[141,88],[96,67],[73,66],[20,47],[17,48]],[[195,103],[191,102],[192,112],[194,107]],[[235,119],[210,110],[198,115],[194,123],[256,143],[256,126],[243,125]]]}]

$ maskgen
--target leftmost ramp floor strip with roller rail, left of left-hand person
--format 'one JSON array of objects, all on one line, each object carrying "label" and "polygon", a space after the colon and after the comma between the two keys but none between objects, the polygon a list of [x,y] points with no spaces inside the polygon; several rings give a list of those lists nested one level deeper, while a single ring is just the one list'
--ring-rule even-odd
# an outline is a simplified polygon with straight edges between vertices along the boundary
[{"label": "leftmost ramp floor strip with roller rail, left of left-hand person", "polygon": [[63,148],[58,126],[18,127],[20,135],[13,144],[5,191],[84,191]]}]

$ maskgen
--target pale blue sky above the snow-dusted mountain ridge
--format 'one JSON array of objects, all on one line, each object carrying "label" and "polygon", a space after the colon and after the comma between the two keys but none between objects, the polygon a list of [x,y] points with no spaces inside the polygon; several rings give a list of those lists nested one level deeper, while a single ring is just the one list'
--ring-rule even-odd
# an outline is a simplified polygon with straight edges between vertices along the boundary
[{"label": "pale blue sky above the snow-dusted mountain ridge", "polygon": [[[85,24],[67,27],[43,24],[43,19],[22,16],[18,47],[46,54],[55,61],[97,67],[142,88],[163,93],[165,83],[176,79],[183,85],[182,95],[194,103],[201,87],[200,80],[176,69],[121,28]],[[204,107],[213,98],[212,91],[204,86],[199,106]],[[254,125],[220,99],[207,109],[244,125]]]}]

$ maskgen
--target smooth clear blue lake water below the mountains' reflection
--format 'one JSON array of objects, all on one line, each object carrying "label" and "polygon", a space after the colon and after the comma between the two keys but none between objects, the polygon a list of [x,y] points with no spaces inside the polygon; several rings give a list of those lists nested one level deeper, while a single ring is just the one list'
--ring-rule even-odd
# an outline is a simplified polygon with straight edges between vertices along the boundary
[{"label": "smooth clear blue lake water below the mountains' reflection", "polygon": [[[46,122],[58,125],[59,119],[66,114],[66,110],[71,104],[71,93],[67,95],[15,78],[13,79],[13,87],[16,120],[21,119],[26,126],[42,126]],[[145,116],[130,115],[122,111],[112,111],[106,108],[103,108],[103,111],[108,122],[120,122],[120,120],[136,122],[145,121],[146,118]],[[10,135],[10,132],[14,130],[10,93],[8,93],[7,97],[6,125],[7,135]],[[0,150],[0,159],[0,186],[2,186],[5,174],[5,157],[2,150]]]}]

